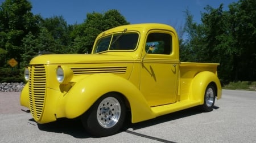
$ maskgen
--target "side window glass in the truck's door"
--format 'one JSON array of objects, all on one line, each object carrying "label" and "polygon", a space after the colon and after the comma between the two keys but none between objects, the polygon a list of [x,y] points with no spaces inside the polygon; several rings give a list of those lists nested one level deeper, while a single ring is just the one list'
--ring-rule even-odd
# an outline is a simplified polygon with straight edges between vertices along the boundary
[{"label": "side window glass in the truck's door", "polygon": [[[149,54],[172,53],[172,37],[167,33],[150,33],[147,36],[146,52]],[[148,50],[149,49],[149,50]]]}]

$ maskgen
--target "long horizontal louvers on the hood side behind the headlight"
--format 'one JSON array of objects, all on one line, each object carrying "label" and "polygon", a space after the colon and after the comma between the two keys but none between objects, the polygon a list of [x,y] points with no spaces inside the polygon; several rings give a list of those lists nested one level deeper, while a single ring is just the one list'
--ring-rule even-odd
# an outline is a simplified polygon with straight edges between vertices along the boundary
[{"label": "long horizontal louvers on the hood side behind the headlight", "polygon": [[74,75],[90,73],[125,73],[127,67],[72,67]]}]

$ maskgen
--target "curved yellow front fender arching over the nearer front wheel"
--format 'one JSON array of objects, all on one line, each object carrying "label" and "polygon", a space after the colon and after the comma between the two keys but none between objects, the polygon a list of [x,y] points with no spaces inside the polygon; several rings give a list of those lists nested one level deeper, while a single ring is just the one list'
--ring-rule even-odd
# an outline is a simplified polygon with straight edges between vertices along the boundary
[{"label": "curved yellow front fender arching over the nearer front wheel", "polygon": [[60,104],[64,104],[67,118],[76,118],[108,92],[118,92],[125,96],[130,103],[133,123],[155,118],[138,88],[123,77],[110,73],[95,74],[80,80],[65,94]]}]

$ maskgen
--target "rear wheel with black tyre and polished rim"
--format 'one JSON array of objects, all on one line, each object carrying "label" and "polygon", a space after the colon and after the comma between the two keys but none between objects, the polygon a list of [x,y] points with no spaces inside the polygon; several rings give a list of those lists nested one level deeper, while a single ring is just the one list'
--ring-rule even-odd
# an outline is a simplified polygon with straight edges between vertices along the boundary
[{"label": "rear wheel with black tyre and polished rim", "polygon": [[208,85],[204,93],[204,104],[201,105],[203,112],[212,111],[216,97],[216,89],[212,84]]}]

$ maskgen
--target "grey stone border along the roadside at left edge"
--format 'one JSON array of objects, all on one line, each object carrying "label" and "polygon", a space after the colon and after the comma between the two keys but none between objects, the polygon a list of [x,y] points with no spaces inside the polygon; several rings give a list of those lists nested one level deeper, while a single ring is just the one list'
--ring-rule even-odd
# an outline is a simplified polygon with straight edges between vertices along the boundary
[{"label": "grey stone border along the roadside at left edge", "polygon": [[25,84],[22,83],[0,83],[0,92],[21,92]]}]

